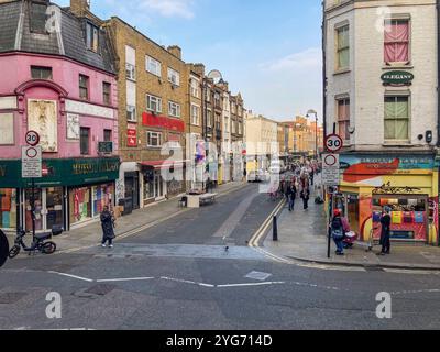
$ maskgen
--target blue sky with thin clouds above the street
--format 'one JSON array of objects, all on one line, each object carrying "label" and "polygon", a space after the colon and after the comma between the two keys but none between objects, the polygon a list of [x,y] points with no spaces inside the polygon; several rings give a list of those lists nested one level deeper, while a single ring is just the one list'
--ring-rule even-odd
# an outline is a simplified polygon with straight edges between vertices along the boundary
[{"label": "blue sky with thin clouds above the street", "polygon": [[314,109],[321,120],[320,0],[91,0],[91,11],[220,70],[254,113],[292,121]]}]

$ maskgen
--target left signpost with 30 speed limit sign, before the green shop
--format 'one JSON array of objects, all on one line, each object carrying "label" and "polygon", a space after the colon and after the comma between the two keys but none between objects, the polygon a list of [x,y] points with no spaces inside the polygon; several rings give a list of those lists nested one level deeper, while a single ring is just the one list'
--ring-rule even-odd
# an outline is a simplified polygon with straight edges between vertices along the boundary
[{"label": "left signpost with 30 speed limit sign, before the green shop", "polygon": [[21,177],[32,179],[31,191],[31,217],[32,217],[32,238],[35,241],[35,178],[41,178],[42,175],[42,147],[40,135],[35,131],[29,131],[25,135],[26,146],[21,150]]}]

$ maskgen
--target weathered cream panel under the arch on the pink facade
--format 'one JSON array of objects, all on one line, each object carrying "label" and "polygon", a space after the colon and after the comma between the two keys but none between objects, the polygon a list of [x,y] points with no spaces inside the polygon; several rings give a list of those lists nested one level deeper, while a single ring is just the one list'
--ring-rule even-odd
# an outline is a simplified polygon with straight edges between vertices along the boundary
[{"label": "weathered cream panel under the arch on the pink facade", "polygon": [[58,152],[57,109],[54,100],[28,101],[28,130],[40,134],[40,145],[45,153]]}]

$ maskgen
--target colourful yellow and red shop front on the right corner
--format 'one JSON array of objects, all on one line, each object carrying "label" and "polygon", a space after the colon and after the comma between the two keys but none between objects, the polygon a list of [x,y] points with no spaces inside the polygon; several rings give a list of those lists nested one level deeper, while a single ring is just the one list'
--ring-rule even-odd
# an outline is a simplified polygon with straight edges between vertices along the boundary
[{"label": "colourful yellow and red shop front on the right corner", "polygon": [[392,212],[395,241],[438,243],[438,172],[433,155],[341,155],[342,179],[333,206],[365,241],[381,237]]}]

